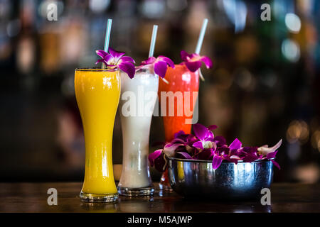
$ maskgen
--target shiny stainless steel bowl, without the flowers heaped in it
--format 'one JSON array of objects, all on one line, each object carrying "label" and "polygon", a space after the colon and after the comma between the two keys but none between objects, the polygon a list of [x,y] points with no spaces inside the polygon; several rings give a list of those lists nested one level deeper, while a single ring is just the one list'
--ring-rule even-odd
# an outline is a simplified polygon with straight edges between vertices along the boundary
[{"label": "shiny stainless steel bowl, without the flowers heaped in it", "polygon": [[271,160],[222,162],[213,170],[211,161],[169,159],[172,189],[186,197],[207,199],[255,199],[261,189],[270,188],[273,177]]}]

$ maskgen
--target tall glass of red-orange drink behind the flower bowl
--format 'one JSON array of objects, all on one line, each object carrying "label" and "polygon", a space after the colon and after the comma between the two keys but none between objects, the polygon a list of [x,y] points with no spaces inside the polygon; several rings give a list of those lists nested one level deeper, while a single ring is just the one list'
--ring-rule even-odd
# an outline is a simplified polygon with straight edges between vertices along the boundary
[{"label": "tall glass of red-orange drink behind the flower bowl", "polygon": [[[163,111],[161,106],[161,116],[164,121],[164,135],[166,142],[169,142],[174,139],[174,133],[178,131],[182,130],[187,134],[191,133],[194,100],[196,100],[199,91],[199,74],[198,71],[190,72],[185,65],[175,65],[175,68],[168,67],[165,78],[169,84],[159,79],[160,104],[162,103],[161,92],[181,92],[183,97],[183,100],[180,102],[176,98],[174,101],[167,100],[166,112]],[[190,92],[189,95],[187,95],[186,92]],[[190,104],[190,106],[185,106],[185,104]],[[174,109],[174,116],[170,116],[170,108]],[[191,111],[191,116],[186,112],[186,109]],[[178,110],[182,111],[182,114],[179,115]],[[159,187],[164,190],[172,190],[169,184],[168,169],[162,174]]]}]

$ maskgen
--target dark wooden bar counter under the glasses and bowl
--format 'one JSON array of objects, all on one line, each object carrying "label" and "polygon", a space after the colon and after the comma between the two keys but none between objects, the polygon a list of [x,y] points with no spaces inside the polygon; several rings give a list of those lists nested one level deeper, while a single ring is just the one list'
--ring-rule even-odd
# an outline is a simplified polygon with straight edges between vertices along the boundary
[{"label": "dark wooden bar counter under the glasses and bowl", "polygon": [[[274,183],[271,206],[260,201],[203,201],[188,200],[175,192],[154,196],[119,196],[114,204],[82,203],[79,192],[82,183],[0,183],[0,212],[320,212],[320,184]],[[58,191],[58,205],[49,206],[49,188]]]}]

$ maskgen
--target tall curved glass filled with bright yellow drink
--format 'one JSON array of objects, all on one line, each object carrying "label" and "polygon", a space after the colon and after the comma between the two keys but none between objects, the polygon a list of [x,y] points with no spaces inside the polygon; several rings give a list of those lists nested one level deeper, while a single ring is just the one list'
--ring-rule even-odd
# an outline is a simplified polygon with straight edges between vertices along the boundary
[{"label": "tall curved glass filled with bright yellow drink", "polygon": [[119,70],[75,70],[75,97],[85,133],[82,201],[108,202],[118,197],[112,169],[112,133],[120,84]]}]

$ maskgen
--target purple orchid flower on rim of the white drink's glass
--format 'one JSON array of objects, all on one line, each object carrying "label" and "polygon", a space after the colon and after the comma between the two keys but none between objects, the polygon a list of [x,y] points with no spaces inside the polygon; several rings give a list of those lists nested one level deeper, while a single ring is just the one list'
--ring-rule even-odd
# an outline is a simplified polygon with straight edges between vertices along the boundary
[{"label": "purple orchid flower on rim of the white drink's glass", "polygon": [[166,75],[168,66],[174,68],[174,62],[169,57],[161,55],[159,57],[149,57],[147,60],[142,61],[140,66],[144,65],[154,65],[154,73],[161,78],[164,78]]}]

